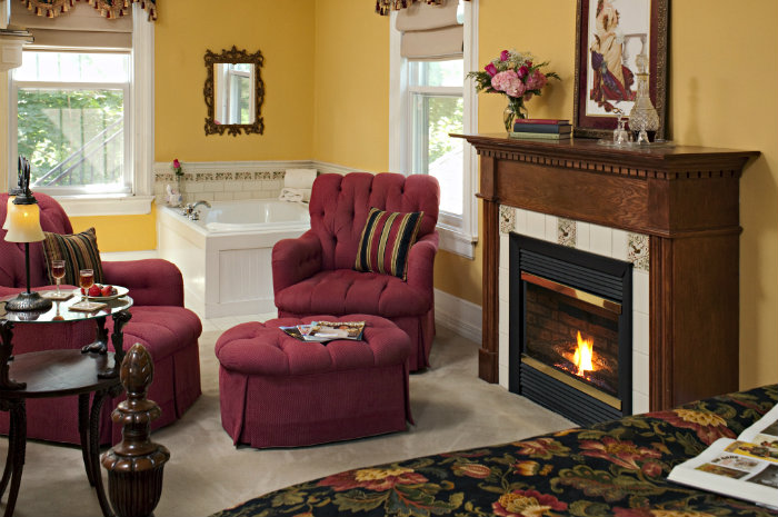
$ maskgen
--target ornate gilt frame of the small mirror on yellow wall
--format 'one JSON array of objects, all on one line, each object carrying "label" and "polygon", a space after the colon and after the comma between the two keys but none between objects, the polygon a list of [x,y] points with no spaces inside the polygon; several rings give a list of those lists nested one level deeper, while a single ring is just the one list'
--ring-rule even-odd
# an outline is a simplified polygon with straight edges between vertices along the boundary
[{"label": "ornate gilt frame of the small mirror on yellow wall", "polygon": [[[206,107],[208,108],[208,117],[206,117],[206,135],[225,135],[225,132],[237,137],[243,131],[246,135],[256,132],[265,132],[265,120],[262,120],[262,102],[265,101],[265,83],[260,70],[265,58],[259,50],[255,53],[248,53],[246,50],[238,50],[235,46],[230,50],[222,50],[221,53],[215,53],[206,50],[206,86],[202,90],[206,98]],[[216,87],[213,78],[213,66],[216,63],[251,63],[255,66],[255,107],[256,113],[253,123],[219,123],[216,120]]]}]

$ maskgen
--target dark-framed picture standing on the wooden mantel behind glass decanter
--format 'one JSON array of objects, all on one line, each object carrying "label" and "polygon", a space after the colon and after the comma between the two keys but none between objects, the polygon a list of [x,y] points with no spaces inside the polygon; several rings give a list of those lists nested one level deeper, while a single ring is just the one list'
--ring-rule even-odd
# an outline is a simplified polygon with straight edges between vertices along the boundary
[{"label": "dark-framed picture standing on the wooden mantel behind glass decanter", "polygon": [[648,56],[649,97],[665,137],[669,0],[578,0],[573,127],[577,137],[609,138],[618,111],[638,92],[635,58]]}]

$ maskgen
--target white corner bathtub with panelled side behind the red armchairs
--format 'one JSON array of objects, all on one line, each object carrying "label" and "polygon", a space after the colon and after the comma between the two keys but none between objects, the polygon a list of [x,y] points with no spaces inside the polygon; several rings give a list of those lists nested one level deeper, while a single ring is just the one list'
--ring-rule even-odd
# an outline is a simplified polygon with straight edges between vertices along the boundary
[{"label": "white corner bathtub with panelled side behind the red armchairs", "polygon": [[308,206],[250,199],[211,207],[198,207],[198,221],[180,208],[158,210],[159,257],[181,270],[187,304],[206,318],[273,311],[272,247],[310,228]]}]

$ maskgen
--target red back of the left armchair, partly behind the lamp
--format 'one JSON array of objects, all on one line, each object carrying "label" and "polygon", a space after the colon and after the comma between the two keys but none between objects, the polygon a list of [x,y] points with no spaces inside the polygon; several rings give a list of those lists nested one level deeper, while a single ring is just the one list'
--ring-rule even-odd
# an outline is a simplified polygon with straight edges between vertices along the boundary
[{"label": "red back of the left armchair, partly behind the lamp", "polygon": [[[72,233],[73,227],[64,213],[62,207],[50,196],[36,192],[36,199],[40,207],[40,226],[43,231],[54,233]],[[0,225],[6,222],[6,209],[8,208],[8,195],[0,193]],[[32,287],[49,285],[46,270],[46,257],[43,243],[30,243],[30,285]],[[0,230],[0,286],[24,287],[24,245],[21,242],[7,242],[6,230]]]}]

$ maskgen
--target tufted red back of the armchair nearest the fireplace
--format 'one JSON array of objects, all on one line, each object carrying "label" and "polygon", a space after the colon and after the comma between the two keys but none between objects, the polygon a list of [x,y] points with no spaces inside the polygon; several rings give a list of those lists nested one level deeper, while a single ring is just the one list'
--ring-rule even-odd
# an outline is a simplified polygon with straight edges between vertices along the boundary
[{"label": "tufted red back of the armchair nearest the fireplace", "polygon": [[321,269],[351,269],[370,208],[393,212],[423,211],[418,238],[435,231],[440,187],[431,176],[351,172],[322,175],[313,182],[311,231],[321,241]]}]

